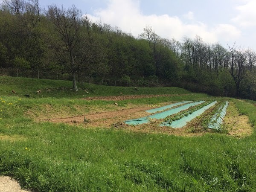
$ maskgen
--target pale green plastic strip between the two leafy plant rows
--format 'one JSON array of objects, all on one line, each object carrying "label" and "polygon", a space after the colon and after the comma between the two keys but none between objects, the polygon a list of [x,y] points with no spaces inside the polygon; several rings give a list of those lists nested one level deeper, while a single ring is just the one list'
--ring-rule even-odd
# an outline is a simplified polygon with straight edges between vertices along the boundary
[{"label": "pale green plastic strip between the two leafy plant rows", "polygon": [[186,125],[187,122],[190,122],[192,119],[194,119],[195,117],[201,115],[202,113],[204,113],[204,111],[206,111],[207,109],[209,109],[210,107],[212,107],[213,105],[215,105],[217,102],[212,102],[209,105],[204,106],[201,109],[198,109],[197,111],[194,111],[192,114],[189,114],[188,116],[184,116],[181,119],[178,119],[177,121],[172,121],[171,124],[169,124],[168,122],[163,122],[160,124],[160,126],[169,126],[172,128],[182,128],[183,126]]}]

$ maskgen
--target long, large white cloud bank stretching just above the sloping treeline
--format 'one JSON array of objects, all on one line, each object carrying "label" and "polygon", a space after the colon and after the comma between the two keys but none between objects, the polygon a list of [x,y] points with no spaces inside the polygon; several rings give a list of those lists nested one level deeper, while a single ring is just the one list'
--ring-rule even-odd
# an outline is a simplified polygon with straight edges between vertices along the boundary
[{"label": "long, large white cloud bank stretching just above the sloping treeline", "polygon": [[184,36],[195,38],[199,35],[204,41],[214,43],[219,41],[220,36],[227,41],[239,37],[241,32],[235,26],[219,24],[218,26],[207,26],[205,23],[194,19],[193,12],[184,14],[187,22],[184,23],[177,16],[169,15],[143,15],[140,11],[138,0],[109,0],[106,9],[99,9],[93,15],[88,15],[94,22],[101,21],[112,26],[119,26],[125,32],[131,32],[137,36],[143,32],[146,25],[152,26],[157,35],[162,38],[175,38],[182,40]]}]

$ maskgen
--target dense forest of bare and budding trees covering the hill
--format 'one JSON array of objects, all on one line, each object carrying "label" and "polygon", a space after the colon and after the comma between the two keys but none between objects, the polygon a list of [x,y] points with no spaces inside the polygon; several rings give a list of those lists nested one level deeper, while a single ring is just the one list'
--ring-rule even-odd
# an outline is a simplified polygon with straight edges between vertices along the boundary
[{"label": "dense forest of bare and budding trees covering the hill", "polygon": [[[175,27],[175,26],[174,26]],[[199,36],[162,38],[151,26],[135,37],[92,22],[76,6],[39,0],[0,5],[0,74],[111,86],[175,86],[256,100],[256,53],[242,45],[207,44]],[[4,72],[4,73],[3,73]],[[28,72],[28,73],[26,73]],[[42,77],[41,78],[46,78]],[[150,82],[150,83],[149,83]]]}]

